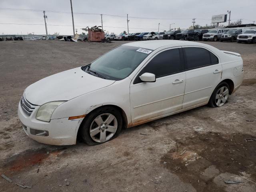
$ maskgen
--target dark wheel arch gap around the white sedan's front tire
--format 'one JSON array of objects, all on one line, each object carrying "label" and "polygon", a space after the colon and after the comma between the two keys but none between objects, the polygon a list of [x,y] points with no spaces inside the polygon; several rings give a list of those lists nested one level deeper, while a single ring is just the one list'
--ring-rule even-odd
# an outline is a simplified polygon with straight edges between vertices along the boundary
[{"label": "dark wheel arch gap around the white sedan's front tire", "polygon": [[[126,116],[126,113],[124,112],[124,110],[119,107],[119,106],[116,106],[116,105],[112,105],[112,104],[107,104],[107,105],[101,105],[101,106],[98,106],[97,108],[94,108],[93,110],[91,110],[88,114],[86,114],[86,116],[88,116],[89,114],[91,114],[92,112],[94,112],[95,110],[99,109],[99,108],[102,108],[102,107],[106,107],[106,106],[111,106],[111,107],[114,107],[116,108],[120,113],[121,113],[121,116],[122,116],[122,120],[123,120],[123,126],[122,128],[127,128],[128,127],[128,119],[127,119],[127,116]],[[81,130],[82,130],[82,126],[83,126],[83,122],[86,120],[86,116],[85,118],[82,120],[79,128],[78,128],[78,131],[76,133],[76,140],[81,136]]]}]

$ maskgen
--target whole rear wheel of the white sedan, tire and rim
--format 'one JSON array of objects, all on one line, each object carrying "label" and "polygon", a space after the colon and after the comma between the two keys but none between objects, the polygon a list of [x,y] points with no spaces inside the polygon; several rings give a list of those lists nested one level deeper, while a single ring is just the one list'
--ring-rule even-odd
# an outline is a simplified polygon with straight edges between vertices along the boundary
[{"label": "whole rear wheel of the white sedan, tire and rim", "polygon": [[[223,88],[223,89],[222,89]],[[221,82],[214,89],[208,105],[210,107],[221,107],[228,102],[229,85],[226,82]]]}]

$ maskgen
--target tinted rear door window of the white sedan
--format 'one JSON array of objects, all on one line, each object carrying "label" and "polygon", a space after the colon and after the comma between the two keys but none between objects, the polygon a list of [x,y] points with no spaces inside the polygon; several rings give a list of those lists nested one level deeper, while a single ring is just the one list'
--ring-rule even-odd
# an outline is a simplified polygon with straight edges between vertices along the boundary
[{"label": "tinted rear door window of the white sedan", "polygon": [[186,70],[200,68],[208,65],[218,64],[218,58],[204,48],[189,47],[184,48]]}]

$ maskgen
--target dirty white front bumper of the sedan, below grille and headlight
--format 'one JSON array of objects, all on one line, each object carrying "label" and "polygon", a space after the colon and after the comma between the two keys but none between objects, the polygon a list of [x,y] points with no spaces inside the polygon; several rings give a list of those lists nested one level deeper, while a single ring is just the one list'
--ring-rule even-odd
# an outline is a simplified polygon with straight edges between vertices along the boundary
[{"label": "dirty white front bumper of the sedan, below grille and headlight", "polygon": [[[40,106],[37,106],[32,114],[28,116],[18,105],[18,118],[22,123],[24,132],[32,139],[50,145],[74,145],[78,128],[83,118],[68,120],[68,118],[52,119],[50,122],[43,122],[36,119],[36,113]],[[48,131],[49,136],[37,136],[31,134],[30,129]]]}]

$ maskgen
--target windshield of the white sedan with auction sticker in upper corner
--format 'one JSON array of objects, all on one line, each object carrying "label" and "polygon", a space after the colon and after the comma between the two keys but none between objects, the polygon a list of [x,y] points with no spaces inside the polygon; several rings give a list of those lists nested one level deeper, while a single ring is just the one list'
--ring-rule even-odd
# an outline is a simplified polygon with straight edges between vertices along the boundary
[{"label": "windshield of the white sedan with auction sticker in upper corner", "polygon": [[133,46],[119,46],[81,69],[108,80],[122,80],[152,52]]}]

